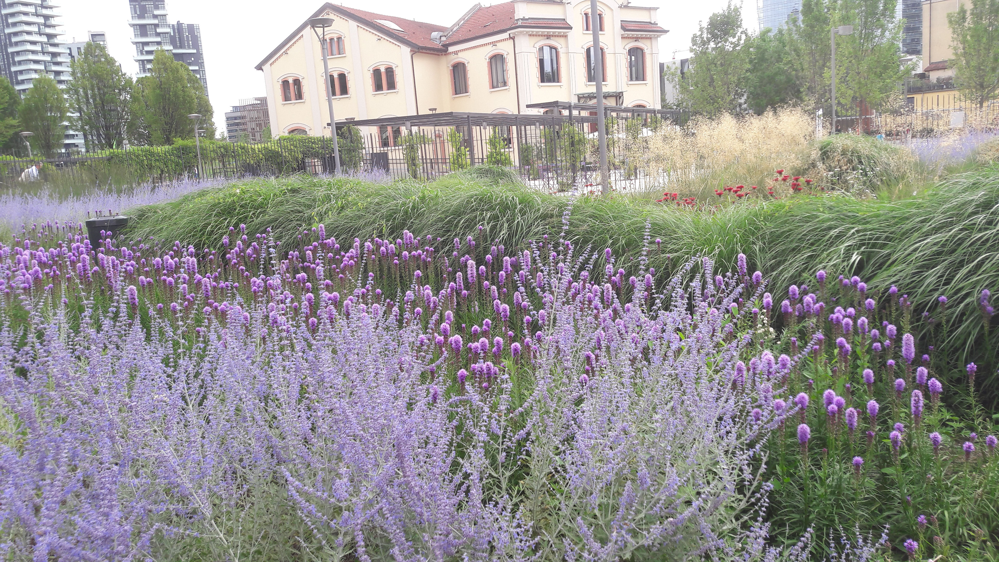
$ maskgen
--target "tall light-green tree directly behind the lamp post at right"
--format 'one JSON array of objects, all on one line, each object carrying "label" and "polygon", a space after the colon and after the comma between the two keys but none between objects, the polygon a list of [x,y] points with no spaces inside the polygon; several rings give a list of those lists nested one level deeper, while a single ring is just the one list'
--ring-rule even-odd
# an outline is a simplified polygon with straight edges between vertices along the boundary
[{"label": "tall light-green tree directly behind the lamp post at right", "polygon": [[858,107],[883,109],[901,101],[898,85],[912,65],[900,65],[902,22],[896,0],[839,0],[833,25],[852,25],[836,38],[836,104],[844,115]]}]

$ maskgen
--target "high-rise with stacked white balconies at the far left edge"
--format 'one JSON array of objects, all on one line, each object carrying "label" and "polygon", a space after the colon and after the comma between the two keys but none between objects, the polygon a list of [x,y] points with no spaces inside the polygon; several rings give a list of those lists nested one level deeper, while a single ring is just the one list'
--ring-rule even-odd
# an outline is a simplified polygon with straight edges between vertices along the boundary
[{"label": "high-rise with stacked white balconies at the far left edge", "polygon": [[55,8],[49,0],[0,0],[0,74],[21,94],[45,74],[61,87],[69,80],[69,51],[59,39]]}]

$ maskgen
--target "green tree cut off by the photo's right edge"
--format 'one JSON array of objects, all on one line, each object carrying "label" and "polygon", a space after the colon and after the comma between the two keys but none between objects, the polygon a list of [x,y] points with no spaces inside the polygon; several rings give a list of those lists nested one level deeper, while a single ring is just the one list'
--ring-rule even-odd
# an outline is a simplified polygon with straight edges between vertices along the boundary
[{"label": "green tree cut off by the photo's right edge", "polygon": [[954,83],[979,108],[999,91],[999,0],[972,0],[947,14],[954,44]]}]

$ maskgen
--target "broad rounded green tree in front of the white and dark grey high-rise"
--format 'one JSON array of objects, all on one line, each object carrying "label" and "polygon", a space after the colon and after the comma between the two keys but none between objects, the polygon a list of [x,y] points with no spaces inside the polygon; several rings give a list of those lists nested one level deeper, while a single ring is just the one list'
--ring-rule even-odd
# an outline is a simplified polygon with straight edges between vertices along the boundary
[{"label": "broad rounded green tree in front of the white and dark grey high-rise", "polygon": [[201,80],[183,62],[163,49],[153,55],[149,76],[138,79],[132,91],[129,138],[135,144],[173,144],[194,138],[195,122],[188,115],[203,116],[205,136],[215,137],[212,105]]}]

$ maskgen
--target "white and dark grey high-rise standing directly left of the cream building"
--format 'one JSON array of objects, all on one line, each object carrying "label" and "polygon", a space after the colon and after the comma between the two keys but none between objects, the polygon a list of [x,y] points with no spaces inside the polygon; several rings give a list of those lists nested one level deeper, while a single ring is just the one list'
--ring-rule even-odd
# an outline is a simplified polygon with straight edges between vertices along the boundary
[{"label": "white and dark grey high-rise standing directly left of the cream building", "polygon": [[205,74],[201,27],[192,23],[168,23],[167,6],[163,0],[129,0],[129,8],[132,12],[129,25],[132,26],[139,76],[149,75],[153,54],[157,49],[164,49],[173,55],[174,60],[188,65],[201,80],[207,94],[208,77]]}]

